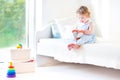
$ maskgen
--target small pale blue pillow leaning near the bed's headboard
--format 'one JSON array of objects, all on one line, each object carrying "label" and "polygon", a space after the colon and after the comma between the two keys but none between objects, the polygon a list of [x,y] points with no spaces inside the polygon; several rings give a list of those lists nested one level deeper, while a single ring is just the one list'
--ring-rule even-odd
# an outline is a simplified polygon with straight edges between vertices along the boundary
[{"label": "small pale blue pillow leaning near the bed's headboard", "polygon": [[52,36],[53,36],[53,38],[61,38],[59,29],[58,29],[57,24],[55,23],[55,21],[52,21],[50,26],[51,26],[51,29],[52,29]]}]

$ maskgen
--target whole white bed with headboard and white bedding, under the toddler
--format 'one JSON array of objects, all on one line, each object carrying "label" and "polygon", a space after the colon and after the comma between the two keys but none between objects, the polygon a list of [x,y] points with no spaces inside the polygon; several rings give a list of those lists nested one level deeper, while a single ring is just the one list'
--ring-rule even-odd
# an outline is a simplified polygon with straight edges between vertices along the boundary
[{"label": "whole white bed with headboard and white bedding, under the toddler", "polygon": [[[73,19],[60,20],[55,24],[61,31],[62,38],[52,38],[51,24],[36,33],[37,55],[51,57],[60,62],[92,64],[108,68],[120,69],[120,39],[105,39],[100,37],[100,31],[95,29],[96,43],[85,44],[78,50],[67,49],[66,32],[71,31]],[[69,24],[69,25],[68,25]],[[97,27],[96,27],[97,28]],[[67,31],[66,31],[67,30]]]}]

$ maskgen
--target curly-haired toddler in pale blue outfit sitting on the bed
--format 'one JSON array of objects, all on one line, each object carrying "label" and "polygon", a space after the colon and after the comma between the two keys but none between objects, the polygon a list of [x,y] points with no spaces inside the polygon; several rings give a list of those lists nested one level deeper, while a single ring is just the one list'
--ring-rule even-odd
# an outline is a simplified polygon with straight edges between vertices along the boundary
[{"label": "curly-haired toddler in pale blue outfit sitting on the bed", "polygon": [[81,6],[77,10],[79,25],[72,30],[75,43],[68,44],[68,49],[78,49],[82,44],[94,43],[95,35],[93,34],[93,23],[90,20],[90,12],[86,6]]}]

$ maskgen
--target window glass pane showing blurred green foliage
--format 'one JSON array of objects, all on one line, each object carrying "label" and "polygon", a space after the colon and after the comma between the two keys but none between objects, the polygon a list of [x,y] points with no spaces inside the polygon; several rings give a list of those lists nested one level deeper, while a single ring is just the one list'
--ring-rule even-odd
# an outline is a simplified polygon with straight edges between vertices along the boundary
[{"label": "window glass pane showing blurred green foliage", "polygon": [[26,43],[25,0],[0,0],[0,48]]}]

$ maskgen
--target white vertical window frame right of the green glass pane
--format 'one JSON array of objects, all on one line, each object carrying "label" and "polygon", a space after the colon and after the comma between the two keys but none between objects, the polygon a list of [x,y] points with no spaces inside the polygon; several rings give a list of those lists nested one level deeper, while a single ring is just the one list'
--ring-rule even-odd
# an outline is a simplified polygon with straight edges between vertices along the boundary
[{"label": "white vertical window frame right of the green glass pane", "polygon": [[31,49],[33,54],[35,44],[35,0],[26,0],[26,46]]}]

